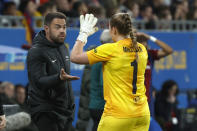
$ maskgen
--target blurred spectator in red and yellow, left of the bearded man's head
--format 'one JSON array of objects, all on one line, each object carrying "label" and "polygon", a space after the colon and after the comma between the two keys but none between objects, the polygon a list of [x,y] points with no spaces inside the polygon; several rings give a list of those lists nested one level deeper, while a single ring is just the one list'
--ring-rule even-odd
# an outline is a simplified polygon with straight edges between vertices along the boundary
[{"label": "blurred spectator in red and yellow, left of the bearded man's head", "polygon": [[31,45],[36,34],[34,24],[36,24],[36,27],[42,26],[42,20],[35,20],[35,17],[41,17],[42,15],[37,11],[37,5],[33,0],[22,0],[19,5],[19,10],[25,17],[23,24],[26,29],[26,41]]}]

